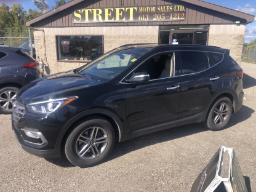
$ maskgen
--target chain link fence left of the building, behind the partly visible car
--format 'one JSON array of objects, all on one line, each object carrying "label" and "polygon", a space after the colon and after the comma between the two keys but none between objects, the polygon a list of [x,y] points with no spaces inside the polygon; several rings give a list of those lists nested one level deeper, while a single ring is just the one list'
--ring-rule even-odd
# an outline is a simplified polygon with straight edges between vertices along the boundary
[{"label": "chain link fence left of the building, behind the partly visible car", "polygon": [[36,57],[34,40],[31,39],[30,29],[27,32],[4,30],[0,28],[0,44],[4,46],[22,47],[22,51]]}]

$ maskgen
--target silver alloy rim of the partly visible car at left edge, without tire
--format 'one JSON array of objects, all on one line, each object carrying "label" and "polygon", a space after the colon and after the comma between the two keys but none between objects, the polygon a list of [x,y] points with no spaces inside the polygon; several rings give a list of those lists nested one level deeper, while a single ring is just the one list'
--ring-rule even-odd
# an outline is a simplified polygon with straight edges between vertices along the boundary
[{"label": "silver alloy rim of the partly visible car at left edge, without tire", "polygon": [[12,110],[17,92],[14,90],[6,90],[0,95],[0,106],[4,110]]}]

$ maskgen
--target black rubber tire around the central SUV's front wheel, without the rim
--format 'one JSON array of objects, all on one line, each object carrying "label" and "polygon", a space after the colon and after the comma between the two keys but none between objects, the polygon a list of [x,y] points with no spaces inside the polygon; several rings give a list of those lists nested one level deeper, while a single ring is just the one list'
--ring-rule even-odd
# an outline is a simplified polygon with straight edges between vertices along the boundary
[{"label": "black rubber tire around the central SUV's front wheel, without the rim", "polygon": [[[84,130],[90,127],[101,127],[105,130],[106,134],[108,135],[108,143],[106,145],[105,150],[103,151],[100,156],[95,159],[82,159],[76,153],[76,140],[78,139],[79,135],[84,132]],[[73,132],[71,132],[70,136],[66,141],[65,146],[65,153],[67,158],[76,166],[79,167],[90,167],[100,164],[111,152],[114,146],[114,129],[111,126],[110,122],[103,120],[103,119],[92,119],[86,122],[83,122],[79,126],[77,126]],[[68,153],[68,154],[67,154]]]}]

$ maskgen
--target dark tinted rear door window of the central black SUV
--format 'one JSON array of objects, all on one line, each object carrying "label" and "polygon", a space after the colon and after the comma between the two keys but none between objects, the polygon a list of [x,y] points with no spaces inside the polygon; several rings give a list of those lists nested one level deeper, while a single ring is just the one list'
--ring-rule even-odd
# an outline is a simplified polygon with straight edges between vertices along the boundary
[{"label": "dark tinted rear door window of the central black SUV", "polygon": [[182,74],[197,73],[210,67],[209,58],[205,52],[181,51]]}]

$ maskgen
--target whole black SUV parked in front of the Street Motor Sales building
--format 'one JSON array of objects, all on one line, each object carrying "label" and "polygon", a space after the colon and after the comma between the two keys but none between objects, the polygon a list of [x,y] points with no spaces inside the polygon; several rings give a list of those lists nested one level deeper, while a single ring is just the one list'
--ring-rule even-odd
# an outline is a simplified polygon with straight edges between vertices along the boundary
[{"label": "whole black SUV parked in front of the Street Motor Sales building", "polygon": [[220,47],[130,44],[23,87],[12,126],[29,153],[63,150],[74,165],[94,166],[115,140],[195,122],[224,129],[241,108],[242,75]]}]

